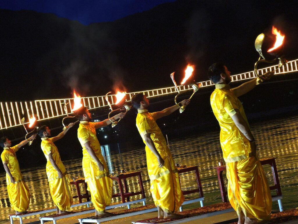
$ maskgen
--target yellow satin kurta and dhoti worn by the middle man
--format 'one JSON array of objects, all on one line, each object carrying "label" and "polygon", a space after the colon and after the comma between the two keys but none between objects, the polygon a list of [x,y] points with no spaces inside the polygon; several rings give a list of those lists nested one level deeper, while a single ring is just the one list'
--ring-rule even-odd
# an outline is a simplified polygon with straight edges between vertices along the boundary
[{"label": "yellow satin kurta and dhoti worn by the middle man", "polygon": [[[83,148],[83,173],[91,193],[91,201],[97,211],[105,211],[105,207],[111,203],[113,181],[110,177],[107,164],[101,154],[101,148],[96,136],[94,123],[80,121],[80,126],[77,130],[77,137]],[[103,164],[103,171],[99,170],[97,163],[86,150],[84,144],[88,141],[90,142],[95,155]]]}]

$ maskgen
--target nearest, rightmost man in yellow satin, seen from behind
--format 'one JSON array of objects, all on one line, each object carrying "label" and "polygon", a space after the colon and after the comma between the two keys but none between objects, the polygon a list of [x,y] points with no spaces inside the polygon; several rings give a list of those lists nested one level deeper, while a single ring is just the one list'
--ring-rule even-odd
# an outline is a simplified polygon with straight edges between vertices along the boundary
[{"label": "nearest, rightmost man in yellow satin, seen from behind", "polygon": [[[266,74],[268,77],[272,75],[272,72]],[[208,78],[215,84],[210,102],[221,127],[220,142],[226,162],[228,197],[238,214],[238,224],[267,219],[272,205],[270,189],[256,154],[256,143],[242,103],[237,98],[252,90],[259,78],[230,89],[230,72],[221,63],[209,67]]]}]

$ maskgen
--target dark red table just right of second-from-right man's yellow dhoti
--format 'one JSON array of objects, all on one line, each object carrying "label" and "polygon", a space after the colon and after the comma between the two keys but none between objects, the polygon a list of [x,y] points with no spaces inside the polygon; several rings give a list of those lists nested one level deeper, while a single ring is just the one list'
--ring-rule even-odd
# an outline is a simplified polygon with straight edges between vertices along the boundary
[{"label": "dark red table just right of second-from-right man's yellow dhoti", "polygon": [[[183,204],[185,205],[185,204],[190,204],[190,203],[199,201],[200,204],[201,204],[201,207],[203,207],[204,206],[204,203],[203,203],[204,195],[203,195],[203,189],[202,189],[200,174],[199,174],[199,171],[198,171],[198,166],[189,166],[189,167],[177,168],[177,169],[178,169],[178,174],[195,171],[195,177],[196,177],[197,185],[198,185],[198,188],[188,190],[188,191],[182,191],[183,195],[193,194],[193,193],[197,193],[197,192],[199,193],[199,198],[184,201]],[[180,207],[180,211],[183,211],[182,205]]]}]

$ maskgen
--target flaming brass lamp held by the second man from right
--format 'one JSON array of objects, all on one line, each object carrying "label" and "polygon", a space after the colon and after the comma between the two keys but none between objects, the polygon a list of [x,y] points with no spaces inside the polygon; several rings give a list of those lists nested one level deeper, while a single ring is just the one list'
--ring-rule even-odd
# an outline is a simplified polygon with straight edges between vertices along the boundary
[{"label": "flaming brass lamp held by the second man from right", "polygon": [[[191,98],[193,97],[193,95],[195,94],[195,92],[198,91],[199,88],[201,87],[201,83],[199,83],[199,84],[197,85],[197,84],[195,83],[195,80],[193,80],[193,70],[194,70],[194,69],[193,69],[193,66],[187,65],[187,68],[186,68],[186,70],[185,70],[184,78],[183,78],[183,80],[182,80],[182,82],[181,82],[181,85],[184,85],[184,86],[189,85],[189,86],[191,86],[191,87],[193,88],[193,94],[190,96],[189,99],[191,99]],[[176,87],[176,90],[178,91],[178,94],[175,96],[174,101],[175,101],[176,105],[179,106],[179,112],[182,113],[182,112],[185,110],[186,105],[182,105],[182,106],[180,106],[180,105],[177,103],[177,97],[178,97],[180,94],[185,93],[188,89],[187,89],[187,90],[184,90],[184,91],[181,91],[181,92],[179,91],[178,86],[177,86],[177,84],[176,84],[176,81],[175,81],[175,79],[174,79],[174,73],[175,73],[175,72],[173,72],[173,73],[171,74],[171,79],[172,79],[172,81],[173,81],[173,83],[174,83],[174,85],[175,85],[175,87]]]}]

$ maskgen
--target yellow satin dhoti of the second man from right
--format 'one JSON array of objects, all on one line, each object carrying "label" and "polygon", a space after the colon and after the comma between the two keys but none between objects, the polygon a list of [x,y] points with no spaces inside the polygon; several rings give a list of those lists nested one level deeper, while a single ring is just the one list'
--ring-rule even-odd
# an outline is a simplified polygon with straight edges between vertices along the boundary
[{"label": "yellow satin dhoti of the second man from right", "polygon": [[181,191],[179,174],[172,155],[163,157],[163,159],[164,166],[159,168],[155,156],[149,159],[147,157],[151,184],[150,192],[156,206],[165,212],[174,213],[179,210],[184,202],[184,195]]}]

